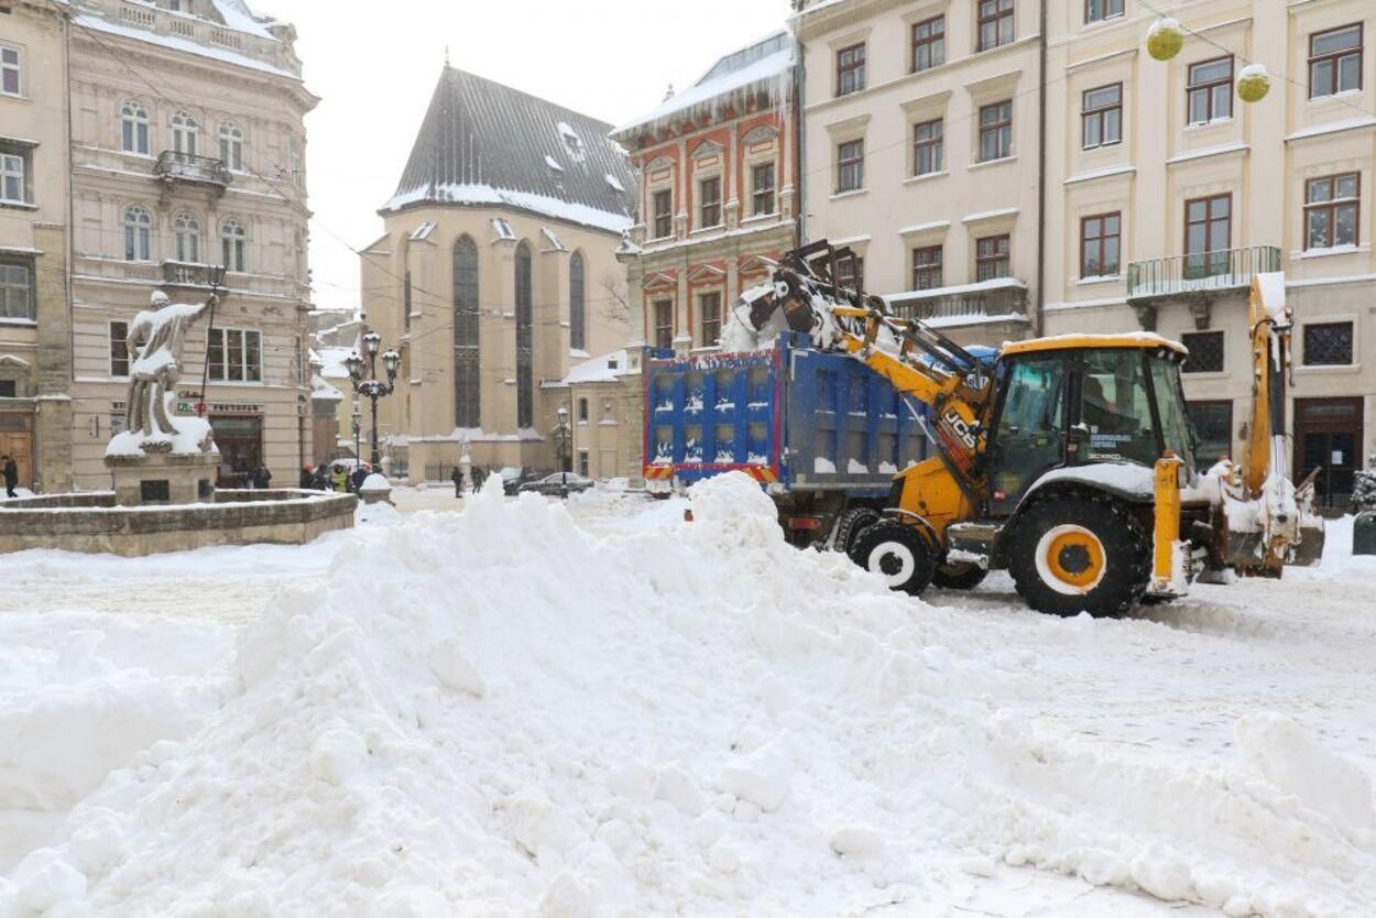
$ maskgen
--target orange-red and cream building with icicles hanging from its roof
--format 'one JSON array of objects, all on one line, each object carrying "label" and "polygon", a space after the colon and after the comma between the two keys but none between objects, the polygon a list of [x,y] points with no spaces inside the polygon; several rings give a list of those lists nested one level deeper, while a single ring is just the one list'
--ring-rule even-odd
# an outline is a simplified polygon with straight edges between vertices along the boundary
[{"label": "orange-red and cream building with icicles hanging from its roof", "polygon": [[640,171],[622,260],[649,345],[716,348],[740,292],[795,245],[794,67],[791,37],[771,36],[611,135]]}]

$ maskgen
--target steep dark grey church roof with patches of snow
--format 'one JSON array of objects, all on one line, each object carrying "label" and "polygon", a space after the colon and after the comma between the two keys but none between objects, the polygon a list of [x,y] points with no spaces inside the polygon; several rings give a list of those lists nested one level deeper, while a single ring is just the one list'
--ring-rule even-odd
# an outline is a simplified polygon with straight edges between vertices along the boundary
[{"label": "steep dark grey church roof with patches of snow", "polygon": [[611,125],[444,67],[396,194],[383,208],[505,205],[611,233],[630,228],[637,187]]}]

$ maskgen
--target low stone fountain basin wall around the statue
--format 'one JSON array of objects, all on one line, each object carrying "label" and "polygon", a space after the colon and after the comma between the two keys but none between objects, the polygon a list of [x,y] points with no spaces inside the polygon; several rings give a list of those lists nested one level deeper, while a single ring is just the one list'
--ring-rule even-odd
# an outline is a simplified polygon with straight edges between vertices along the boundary
[{"label": "low stone fountain basin wall around the statue", "polygon": [[140,557],[208,545],[304,545],[354,526],[358,497],[217,490],[204,504],[117,506],[114,491],[0,502],[0,555],[51,548]]}]

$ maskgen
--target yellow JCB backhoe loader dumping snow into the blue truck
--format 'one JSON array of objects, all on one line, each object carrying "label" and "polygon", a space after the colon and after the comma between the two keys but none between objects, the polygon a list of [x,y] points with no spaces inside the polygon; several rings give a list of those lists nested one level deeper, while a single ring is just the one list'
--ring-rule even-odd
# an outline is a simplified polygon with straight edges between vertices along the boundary
[{"label": "yellow JCB backhoe loader dumping snow into the blue truck", "polygon": [[788,253],[739,312],[761,329],[782,311],[819,348],[849,352],[927,406],[936,456],[899,472],[885,513],[849,520],[841,546],[890,588],[973,588],[1009,570],[1039,611],[1117,615],[1183,596],[1205,571],[1280,577],[1317,563],[1313,482],[1296,487],[1287,462],[1284,275],[1260,275],[1251,290],[1255,388],[1241,465],[1201,473],[1182,345],[1149,333],[1042,337],[1006,345],[991,370],[837,284],[846,255],[824,241]]}]

